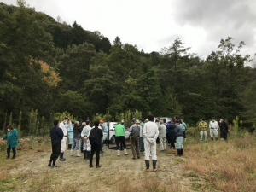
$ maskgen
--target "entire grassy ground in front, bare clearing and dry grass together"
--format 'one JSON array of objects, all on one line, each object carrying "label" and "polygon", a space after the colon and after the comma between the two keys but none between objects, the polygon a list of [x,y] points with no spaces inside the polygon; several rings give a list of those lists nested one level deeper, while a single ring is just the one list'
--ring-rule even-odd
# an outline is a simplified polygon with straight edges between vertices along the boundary
[{"label": "entire grassy ground in front, bare clearing and dry grass together", "polygon": [[158,152],[158,172],[145,172],[144,160],[117,157],[105,148],[102,168],[89,168],[82,157],[47,166],[49,143],[33,144],[33,149],[19,151],[16,160],[0,154],[0,191],[104,191],[104,192],[187,192],[256,191],[256,137],[199,143],[188,139],[184,156],[168,149]]}]

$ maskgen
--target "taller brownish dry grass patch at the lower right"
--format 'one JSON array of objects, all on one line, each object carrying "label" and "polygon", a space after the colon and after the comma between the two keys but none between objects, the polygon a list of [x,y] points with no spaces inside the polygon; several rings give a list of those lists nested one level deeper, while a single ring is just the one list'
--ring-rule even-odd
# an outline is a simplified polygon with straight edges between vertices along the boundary
[{"label": "taller brownish dry grass patch at the lower right", "polygon": [[247,136],[229,143],[199,143],[187,149],[186,169],[207,179],[224,192],[256,191],[256,143]]}]

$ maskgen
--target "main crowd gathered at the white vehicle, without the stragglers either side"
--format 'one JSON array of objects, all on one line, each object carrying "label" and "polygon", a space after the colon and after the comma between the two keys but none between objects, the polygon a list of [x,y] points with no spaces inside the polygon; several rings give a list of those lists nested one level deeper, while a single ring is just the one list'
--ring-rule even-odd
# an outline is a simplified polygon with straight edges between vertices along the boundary
[{"label": "main crowd gathered at the white vehicle, without the stragglers either side", "polygon": [[[87,120],[79,125],[79,122],[71,123],[65,118],[60,123],[55,120],[54,128],[50,132],[52,142],[52,154],[49,160],[49,166],[55,167],[55,162],[60,157],[65,161],[65,151],[67,146],[70,148],[70,154],[81,156],[84,153],[84,159],[89,161],[89,166],[93,167],[92,160],[96,154],[96,168],[100,166],[100,152],[102,151],[103,122],[95,121],[94,126],[90,126]],[[163,119],[154,119],[149,115],[144,122],[139,119],[132,119],[132,125],[128,129],[130,132],[132,159],[140,159],[141,153],[144,154],[146,170],[149,171],[150,159],[152,160],[153,171],[157,171],[157,139],[160,141],[160,150],[167,148],[166,140],[170,148],[177,148],[177,155],[183,155],[183,142],[186,138],[187,125],[183,119],[172,119],[167,122]],[[114,127],[117,156],[121,151],[128,155],[125,142],[125,125],[119,122]],[[176,145],[175,145],[176,143]]]}]

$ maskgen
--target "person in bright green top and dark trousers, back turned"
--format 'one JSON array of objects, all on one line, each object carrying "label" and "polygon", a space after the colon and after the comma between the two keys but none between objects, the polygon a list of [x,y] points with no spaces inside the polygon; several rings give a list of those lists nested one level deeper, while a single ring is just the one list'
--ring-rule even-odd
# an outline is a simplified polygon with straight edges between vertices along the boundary
[{"label": "person in bright green top and dark trousers, back turned", "polygon": [[117,149],[117,155],[120,156],[120,146],[124,147],[124,153],[127,155],[127,150],[126,150],[126,143],[125,143],[125,125],[118,124],[115,125],[115,142],[116,142],[116,149]]}]

